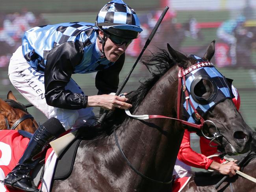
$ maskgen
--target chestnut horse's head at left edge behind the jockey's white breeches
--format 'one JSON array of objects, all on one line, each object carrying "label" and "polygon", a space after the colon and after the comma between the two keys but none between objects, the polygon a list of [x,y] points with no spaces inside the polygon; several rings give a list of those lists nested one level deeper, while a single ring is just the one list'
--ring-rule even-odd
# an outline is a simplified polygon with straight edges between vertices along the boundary
[{"label": "chestnut horse's head at left edge behind the jockey's white breeches", "polygon": [[[12,105],[12,106],[11,106]],[[0,129],[21,129],[34,133],[38,124],[28,114],[26,107],[17,102],[11,91],[8,92],[6,102],[0,99]]]}]

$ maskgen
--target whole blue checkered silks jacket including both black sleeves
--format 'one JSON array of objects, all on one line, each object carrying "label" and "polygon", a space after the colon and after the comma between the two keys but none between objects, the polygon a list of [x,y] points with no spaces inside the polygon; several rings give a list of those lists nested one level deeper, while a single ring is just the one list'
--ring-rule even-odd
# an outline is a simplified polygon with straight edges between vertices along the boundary
[{"label": "whole blue checkered silks jacket including both black sleeves", "polygon": [[48,105],[81,109],[87,97],[72,93],[65,86],[74,73],[97,72],[99,94],[116,92],[124,54],[112,63],[101,57],[96,46],[96,28],[91,23],[70,22],[46,25],[26,31],[22,53],[33,68],[44,72],[45,99]]}]

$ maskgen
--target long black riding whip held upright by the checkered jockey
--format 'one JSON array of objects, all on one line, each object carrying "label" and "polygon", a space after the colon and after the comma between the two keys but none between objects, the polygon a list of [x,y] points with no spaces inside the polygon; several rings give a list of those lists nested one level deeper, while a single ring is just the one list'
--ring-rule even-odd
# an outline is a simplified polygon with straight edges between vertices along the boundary
[{"label": "long black riding whip held upright by the checkered jockey", "polygon": [[[134,65],[132,66],[132,69],[130,70],[130,72],[128,73],[128,75],[126,76],[126,78],[124,79],[124,81],[122,82],[121,86],[119,87],[119,89],[117,89],[117,92],[115,95],[119,95],[122,91],[122,89],[124,88],[124,85],[127,83],[128,79],[130,78],[130,75],[132,74],[135,66],[137,65],[137,63],[139,62],[139,59],[141,58],[141,56],[143,55],[144,51],[146,50],[147,46],[149,45],[149,43],[151,42],[151,40],[153,39],[155,33],[156,33],[156,30],[158,29],[158,27],[160,26],[162,20],[163,20],[163,17],[165,16],[167,10],[169,9],[168,6],[165,7],[165,9],[163,10],[163,13],[161,14],[160,18],[158,19],[158,22],[156,23],[154,29],[152,30],[152,32],[150,33],[141,53],[139,54],[139,57],[137,58],[137,60],[135,61]],[[108,114],[108,110],[104,110],[104,113],[102,114],[102,116],[100,117],[100,119],[98,120],[98,122],[101,124],[106,115]]]}]

